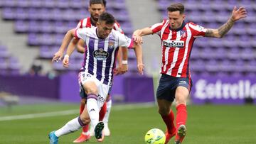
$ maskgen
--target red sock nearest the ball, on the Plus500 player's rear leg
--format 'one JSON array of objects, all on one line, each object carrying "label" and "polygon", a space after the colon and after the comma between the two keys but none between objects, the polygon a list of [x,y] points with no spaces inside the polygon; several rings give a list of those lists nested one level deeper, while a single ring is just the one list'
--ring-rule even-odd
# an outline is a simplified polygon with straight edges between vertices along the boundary
[{"label": "red sock nearest the ball, on the Plus500 player's rear leg", "polygon": [[176,128],[174,126],[174,112],[170,111],[169,115],[167,116],[161,115],[161,117],[163,118],[164,123],[166,123],[168,133],[169,134],[175,133]]}]

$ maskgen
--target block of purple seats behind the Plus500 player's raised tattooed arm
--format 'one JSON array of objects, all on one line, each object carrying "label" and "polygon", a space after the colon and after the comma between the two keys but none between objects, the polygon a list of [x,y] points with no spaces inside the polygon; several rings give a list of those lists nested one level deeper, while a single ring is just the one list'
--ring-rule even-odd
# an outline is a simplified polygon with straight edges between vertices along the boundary
[{"label": "block of purple seats behind the Plus500 player's raised tattooed arm", "polygon": [[[157,0],[162,18],[167,18],[166,6],[171,2],[183,2],[186,21],[193,21],[205,28],[218,28],[227,21],[233,6],[245,6],[248,16],[235,23],[223,39],[196,40],[191,54],[191,71],[194,74],[252,75],[256,72],[255,38],[256,4],[253,0]],[[205,72],[206,71],[206,72]],[[206,74],[208,73],[208,74]]]}]

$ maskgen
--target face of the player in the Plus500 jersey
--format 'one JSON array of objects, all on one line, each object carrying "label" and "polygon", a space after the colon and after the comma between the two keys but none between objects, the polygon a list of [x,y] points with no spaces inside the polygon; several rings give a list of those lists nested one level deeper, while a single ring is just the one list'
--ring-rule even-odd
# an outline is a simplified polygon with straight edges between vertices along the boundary
[{"label": "face of the player in the Plus500 jersey", "polygon": [[184,21],[185,15],[181,14],[179,11],[168,11],[168,17],[170,21],[171,29],[178,29],[181,27]]}]

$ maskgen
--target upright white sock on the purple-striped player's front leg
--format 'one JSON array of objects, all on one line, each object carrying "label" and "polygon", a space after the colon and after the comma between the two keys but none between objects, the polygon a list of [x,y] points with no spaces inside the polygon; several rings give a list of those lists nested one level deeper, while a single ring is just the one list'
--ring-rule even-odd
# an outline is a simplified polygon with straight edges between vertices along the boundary
[{"label": "upright white sock on the purple-striped player's front leg", "polygon": [[97,100],[93,99],[93,98],[87,99],[86,106],[87,106],[87,111],[88,111],[89,116],[90,116],[91,126],[94,129],[95,126],[97,125],[97,123],[99,123],[99,112],[100,112],[100,109],[99,109],[99,107],[97,105]]}]

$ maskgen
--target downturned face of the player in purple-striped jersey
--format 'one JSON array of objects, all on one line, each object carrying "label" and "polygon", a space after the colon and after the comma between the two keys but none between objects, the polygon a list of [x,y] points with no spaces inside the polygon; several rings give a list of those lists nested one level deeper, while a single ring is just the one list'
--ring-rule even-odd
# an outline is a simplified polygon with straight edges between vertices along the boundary
[{"label": "downturned face of the player in purple-striped jersey", "polygon": [[105,39],[108,35],[110,35],[112,29],[114,27],[113,24],[106,24],[105,21],[97,22],[97,35],[99,38]]}]

